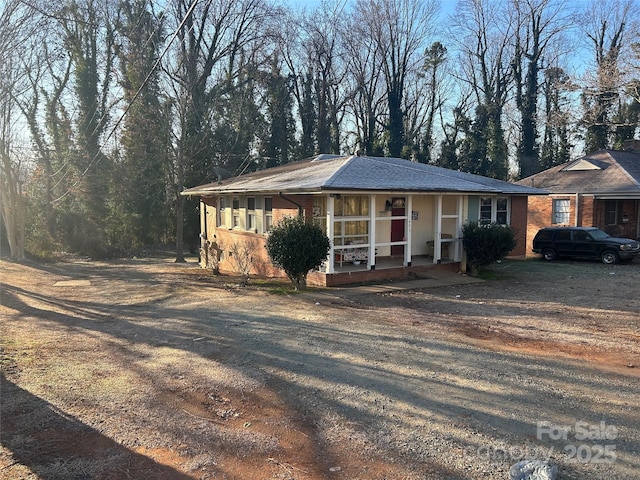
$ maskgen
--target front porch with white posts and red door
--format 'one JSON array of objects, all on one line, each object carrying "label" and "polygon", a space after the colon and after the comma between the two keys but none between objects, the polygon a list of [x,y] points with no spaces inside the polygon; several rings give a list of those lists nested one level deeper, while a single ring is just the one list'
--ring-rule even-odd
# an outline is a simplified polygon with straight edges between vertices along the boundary
[{"label": "front porch with white posts and red door", "polygon": [[331,250],[320,271],[342,274],[460,262],[467,197],[439,194],[330,194],[313,217]]}]

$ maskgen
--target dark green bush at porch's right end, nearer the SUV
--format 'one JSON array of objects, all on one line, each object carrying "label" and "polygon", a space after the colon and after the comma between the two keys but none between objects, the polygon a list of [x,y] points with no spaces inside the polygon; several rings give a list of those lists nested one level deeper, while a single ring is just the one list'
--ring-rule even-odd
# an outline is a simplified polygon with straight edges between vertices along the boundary
[{"label": "dark green bush at porch's right end, nearer the SUV", "polygon": [[472,274],[502,260],[516,246],[513,229],[508,225],[470,222],[462,227],[462,245],[467,252],[467,265]]}]

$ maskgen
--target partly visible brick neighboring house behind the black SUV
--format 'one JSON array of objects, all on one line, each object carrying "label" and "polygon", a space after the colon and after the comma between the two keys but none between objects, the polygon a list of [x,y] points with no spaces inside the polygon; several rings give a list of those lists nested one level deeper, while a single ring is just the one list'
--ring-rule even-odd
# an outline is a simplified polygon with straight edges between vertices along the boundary
[{"label": "partly visible brick neighboring house behind the black SUV", "polygon": [[536,232],[551,225],[593,226],[616,237],[640,238],[640,141],[628,147],[598,150],[517,182],[550,193],[529,201],[529,255]]}]

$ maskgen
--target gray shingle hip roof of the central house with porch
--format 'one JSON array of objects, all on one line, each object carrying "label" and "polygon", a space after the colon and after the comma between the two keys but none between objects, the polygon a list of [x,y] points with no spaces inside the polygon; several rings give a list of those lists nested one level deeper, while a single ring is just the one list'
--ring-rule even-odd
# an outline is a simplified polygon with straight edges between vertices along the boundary
[{"label": "gray shingle hip roof of the central house with porch", "polygon": [[517,185],[400,158],[319,155],[313,159],[190,188],[182,194],[304,193],[341,190],[512,195],[546,193],[526,185]]}]

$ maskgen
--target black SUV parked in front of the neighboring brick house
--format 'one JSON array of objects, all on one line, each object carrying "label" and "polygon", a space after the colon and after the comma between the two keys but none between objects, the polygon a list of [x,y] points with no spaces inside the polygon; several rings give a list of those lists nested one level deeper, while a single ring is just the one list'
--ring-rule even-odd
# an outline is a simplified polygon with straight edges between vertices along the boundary
[{"label": "black SUV parked in front of the neighboring brick house", "polygon": [[548,227],[536,234],[533,251],[541,253],[545,260],[579,257],[611,264],[631,261],[640,254],[640,243],[629,238],[611,237],[594,227]]}]

